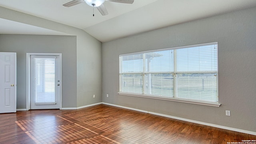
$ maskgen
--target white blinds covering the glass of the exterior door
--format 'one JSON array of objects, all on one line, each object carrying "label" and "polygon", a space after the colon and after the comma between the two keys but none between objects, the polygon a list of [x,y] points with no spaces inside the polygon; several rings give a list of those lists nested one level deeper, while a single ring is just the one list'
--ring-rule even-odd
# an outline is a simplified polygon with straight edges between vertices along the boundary
[{"label": "white blinds covering the glass of the exterior door", "polygon": [[55,58],[33,58],[35,104],[56,103]]}]

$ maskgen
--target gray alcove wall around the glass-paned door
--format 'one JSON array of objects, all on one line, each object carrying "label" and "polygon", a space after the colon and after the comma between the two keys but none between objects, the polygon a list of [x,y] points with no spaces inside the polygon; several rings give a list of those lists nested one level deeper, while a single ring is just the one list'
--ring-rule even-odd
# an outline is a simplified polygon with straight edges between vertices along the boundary
[{"label": "gray alcove wall around the glass-paned door", "polygon": [[17,53],[17,108],[26,108],[26,53],[62,53],[62,107],[76,107],[76,36],[0,34],[0,52]]}]

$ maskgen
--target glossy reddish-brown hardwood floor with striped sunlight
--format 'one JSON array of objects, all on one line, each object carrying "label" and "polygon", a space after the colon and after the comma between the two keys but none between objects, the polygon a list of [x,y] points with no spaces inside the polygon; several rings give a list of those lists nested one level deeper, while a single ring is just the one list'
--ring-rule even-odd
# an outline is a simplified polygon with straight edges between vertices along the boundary
[{"label": "glossy reddish-brown hardwood floor with striped sunlight", "polygon": [[256,136],[104,104],[0,114],[0,144],[227,144]]}]

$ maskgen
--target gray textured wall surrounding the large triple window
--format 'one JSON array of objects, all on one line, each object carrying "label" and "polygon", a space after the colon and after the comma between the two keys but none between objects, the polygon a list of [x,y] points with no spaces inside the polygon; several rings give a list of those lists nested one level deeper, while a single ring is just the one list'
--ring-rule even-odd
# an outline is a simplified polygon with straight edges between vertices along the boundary
[{"label": "gray textured wall surrounding the large triple window", "polygon": [[[218,42],[220,107],[119,95],[119,54]],[[102,44],[102,101],[256,132],[256,8]],[[109,97],[106,97],[109,94]],[[225,116],[225,110],[231,116]]]}]

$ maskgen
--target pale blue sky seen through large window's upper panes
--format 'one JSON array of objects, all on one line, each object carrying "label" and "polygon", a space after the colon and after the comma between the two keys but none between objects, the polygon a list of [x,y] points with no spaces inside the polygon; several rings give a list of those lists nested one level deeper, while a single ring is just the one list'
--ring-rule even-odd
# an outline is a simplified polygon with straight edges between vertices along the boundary
[{"label": "pale blue sky seen through large window's upper panes", "polygon": [[[177,72],[216,72],[217,44],[176,49]],[[122,56],[122,72],[143,72],[143,54]],[[128,60],[129,59],[129,60]],[[174,72],[174,50],[148,52],[146,72]]]}]

